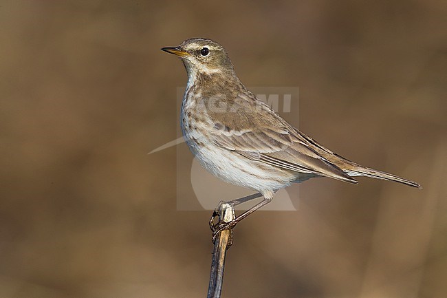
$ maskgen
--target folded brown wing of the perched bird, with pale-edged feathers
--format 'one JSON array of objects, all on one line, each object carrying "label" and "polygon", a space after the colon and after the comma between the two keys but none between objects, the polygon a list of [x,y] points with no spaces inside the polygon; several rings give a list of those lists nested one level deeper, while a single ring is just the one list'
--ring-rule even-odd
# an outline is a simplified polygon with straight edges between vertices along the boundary
[{"label": "folded brown wing of the perched bird, with pale-edged feathers", "polygon": [[211,138],[221,147],[274,167],[357,183],[253,94],[238,96],[226,113],[208,111],[208,115],[215,123]]}]

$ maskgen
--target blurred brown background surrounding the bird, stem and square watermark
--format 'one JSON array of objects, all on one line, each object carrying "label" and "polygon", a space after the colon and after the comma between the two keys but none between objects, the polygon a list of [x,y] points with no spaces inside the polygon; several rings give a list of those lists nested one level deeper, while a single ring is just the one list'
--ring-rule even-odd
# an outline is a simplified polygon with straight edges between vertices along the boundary
[{"label": "blurred brown background surrounding the bird, stem and square watermark", "polygon": [[446,15],[439,0],[1,1],[0,297],[205,297],[210,212],[176,211],[175,147],[146,154],[177,137],[186,84],[160,47],[195,36],[248,86],[299,86],[309,136],[424,187],[305,182],[298,211],[237,226],[223,297],[447,297]]}]

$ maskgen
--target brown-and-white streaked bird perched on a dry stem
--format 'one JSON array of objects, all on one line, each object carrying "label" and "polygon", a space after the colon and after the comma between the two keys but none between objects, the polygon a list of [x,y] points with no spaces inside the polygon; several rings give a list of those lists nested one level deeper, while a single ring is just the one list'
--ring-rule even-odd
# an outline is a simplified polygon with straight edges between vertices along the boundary
[{"label": "brown-and-white streaked bird perched on a dry stem", "polygon": [[417,182],[351,162],[287,123],[241,83],[228,53],[216,41],[186,39],[161,50],[181,58],[188,74],[180,125],[190,151],[217,178],[263,197],[215,232],[234,227],[271,202],[279,189],[310,178],[357,184],[353,177],[366,176],[422,188]]}]

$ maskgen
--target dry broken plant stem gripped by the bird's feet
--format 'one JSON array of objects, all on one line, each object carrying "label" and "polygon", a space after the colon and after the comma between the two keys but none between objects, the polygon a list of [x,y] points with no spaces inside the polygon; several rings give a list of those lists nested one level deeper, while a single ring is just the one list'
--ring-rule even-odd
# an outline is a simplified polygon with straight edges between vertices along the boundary
[{"label": "dry broken plant stem gripped by the bird's feet", "polygon": [[[219,222],[231,222],[236,218],[234,204],[231,204],[230,202],[221,202],[219,203],[218,208]],[[221,297],[226,251],[231,244],[232,228],[219,231],[215,238],[214,251],[212,252],[208,298]]]}]

